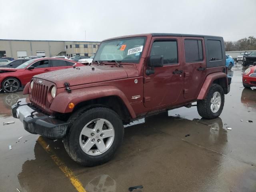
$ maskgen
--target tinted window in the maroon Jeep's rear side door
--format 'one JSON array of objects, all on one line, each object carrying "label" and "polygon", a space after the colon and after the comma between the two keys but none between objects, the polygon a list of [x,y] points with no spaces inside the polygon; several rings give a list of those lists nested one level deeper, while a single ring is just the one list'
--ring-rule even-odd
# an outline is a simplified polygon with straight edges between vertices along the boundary
[{"label": "tinted window in the maroon Jeep's rear side door", "polygon": [[186,62],[203,60],[203,48],[201,40],[184,40]]}]

